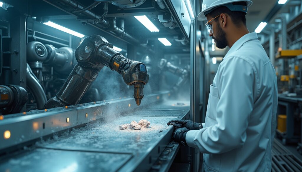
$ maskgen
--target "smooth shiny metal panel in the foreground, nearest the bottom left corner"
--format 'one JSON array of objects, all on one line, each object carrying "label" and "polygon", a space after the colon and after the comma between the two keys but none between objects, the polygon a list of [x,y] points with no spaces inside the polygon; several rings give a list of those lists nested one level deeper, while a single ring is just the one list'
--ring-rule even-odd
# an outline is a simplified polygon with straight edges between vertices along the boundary
[{"label": "smooth shiny metal panel in the foreground, nearest the bottom left corner", "polygon": [[[24,152],[0,164],[3,172],[41,172],[41,171],[110,171],[114,172],[133,155],[105,152],[67,151],[35,149]],[[106,164],[106,165],[104,165]]]}]

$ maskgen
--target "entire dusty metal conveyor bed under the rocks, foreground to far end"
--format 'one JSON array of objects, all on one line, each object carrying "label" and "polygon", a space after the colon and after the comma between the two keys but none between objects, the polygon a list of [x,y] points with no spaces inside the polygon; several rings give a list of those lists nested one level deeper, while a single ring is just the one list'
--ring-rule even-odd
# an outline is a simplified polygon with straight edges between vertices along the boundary
[{"label": "entire dusty metal conveyor bed under the rocks, foreground to far end", "polygon": [[[37,142],[33,148],[1,157],[0,171],[148,171],[171,140],[171,119],[188,114],[189,106],[153,105],[109,116],[62,136]],[[119,130],[119,125],[147,119],[150,128]]]}]

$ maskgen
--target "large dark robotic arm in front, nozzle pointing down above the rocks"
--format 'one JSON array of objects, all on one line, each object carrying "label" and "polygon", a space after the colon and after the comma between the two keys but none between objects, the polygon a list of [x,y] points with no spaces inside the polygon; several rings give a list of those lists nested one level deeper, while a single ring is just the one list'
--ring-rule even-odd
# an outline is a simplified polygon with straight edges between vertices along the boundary
[{"label": "large dark robotic arm in front, nozzle pointing down above the rocks", "polygon": [[134,99],[136,104],[140,105],[144,85],[149,80],[145,64],[125,58],[99,35],[89,36],[82,41],[76,48],[76,59],[78,64],[56,97],[51,98],[45,108],[78,104],[104,66],[120,73],[127,85],[134,86]]}]

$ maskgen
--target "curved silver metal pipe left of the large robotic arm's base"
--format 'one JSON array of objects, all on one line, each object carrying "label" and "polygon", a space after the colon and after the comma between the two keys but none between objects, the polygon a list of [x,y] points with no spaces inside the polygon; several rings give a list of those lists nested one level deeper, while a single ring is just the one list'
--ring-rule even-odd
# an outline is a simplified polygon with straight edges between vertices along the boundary
[{"label": "curved silver metal pipe left of the large robotic arm's base", "polygon": [[34,98],[36,99],[37,108],[43,109],[47,102],[46,94],[28,64],[26,68],[26,82],[28,88],[32,90]]}]

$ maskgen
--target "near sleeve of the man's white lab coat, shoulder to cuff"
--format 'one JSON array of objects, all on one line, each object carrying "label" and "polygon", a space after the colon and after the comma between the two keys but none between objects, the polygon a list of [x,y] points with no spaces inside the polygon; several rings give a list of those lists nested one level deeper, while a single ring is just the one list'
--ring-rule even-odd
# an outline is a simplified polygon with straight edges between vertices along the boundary
[{"label": "near sleeve of the man's white lab coat, shoulder to cuff", "polygon": [[244,144],[254,104],[254,71],[251,63],[239,57],[230,57],[220,64],[216,76],[217,124],[188,131],[189,146],[202,153],[220,154]]}]

